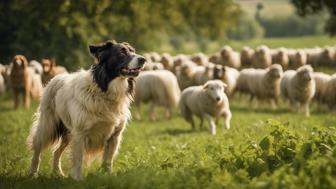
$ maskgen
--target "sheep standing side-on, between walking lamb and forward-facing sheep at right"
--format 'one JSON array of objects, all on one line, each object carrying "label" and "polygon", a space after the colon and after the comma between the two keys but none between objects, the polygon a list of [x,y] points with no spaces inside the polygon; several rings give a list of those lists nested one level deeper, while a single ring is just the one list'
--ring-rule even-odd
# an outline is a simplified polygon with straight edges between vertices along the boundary
[{"label": "sheep standing side-on, between walking lamb and forward-facing sheep at right", "polygon": [[[246,81],[246,91],[251,100],[256,97],[260,101],[269,101],[276,108],[280,96],[280,81],[283,69],[279,64],[273,64],[267,69],[245,69],[240,73],[238,82]],[[245,79],[241,79],[245,77]]]}]

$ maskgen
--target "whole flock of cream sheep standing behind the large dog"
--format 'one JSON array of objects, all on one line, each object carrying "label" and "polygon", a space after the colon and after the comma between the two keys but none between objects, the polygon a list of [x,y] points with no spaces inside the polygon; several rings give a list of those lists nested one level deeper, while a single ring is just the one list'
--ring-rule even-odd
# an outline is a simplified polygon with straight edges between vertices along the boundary
[{"label": "whole flock of cream sheep standing behind the large dog", "polygon": [[[309,106],[313,99],[330,109],[336,107],[336,74],[313,70],[318,66],[336,67],[335,47],[270,49],[261,45],[256,49],[244,47],[236,52],[224,46],[210,56],[151,52],[145,53],[144,57],[147,60],[144,71],[136,78],[134,104],[138,107],[137,119],[141,119],[142,103],[150,103],[152,120],[156,119],[156,106],[166,108],[167,118],[178,107],[193,128],[193,116],[197,116],[201,127],[205,119],[211,133],[216,134],[216,124],[222,116],[226,128],[230,128],[229,99],[236,93],[247,94],[250,100],[267,102],[273,109],[282,95],[293,112],[303,111],[306,116],[310,115]],[[26,60],[23,62],[27,64]],[[32,61],[27,66],[36,69],[35,73],[41,74],[41,78],[46,78],[43,83],[66,72],[57,71],[52,62],[43,62],[41,67]],[[0,65],[0,94],[5,90],[11,69]],[[19,85],[20,81],[16,83],[14,85]]]}]

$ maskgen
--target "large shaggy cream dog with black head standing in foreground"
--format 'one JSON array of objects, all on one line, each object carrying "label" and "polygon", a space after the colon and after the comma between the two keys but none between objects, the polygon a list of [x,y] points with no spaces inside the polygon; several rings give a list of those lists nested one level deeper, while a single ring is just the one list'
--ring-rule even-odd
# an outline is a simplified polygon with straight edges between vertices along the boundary
[{"label": "large shaggy cream dog with black head standing in foreground", "polygon": [[83,179],[85,154],[103,151],[102,170],[111,173],[122,133],[131,117],[129,105],[145,58],[127,43],[90,45],[95,57],[88,71],[61,74],[46,86],[28,142],[33,151],[30,175],[37,173],[40,154],[57,144],[53,172],[63,175],[60,157],[71,145],[70,176]]}]

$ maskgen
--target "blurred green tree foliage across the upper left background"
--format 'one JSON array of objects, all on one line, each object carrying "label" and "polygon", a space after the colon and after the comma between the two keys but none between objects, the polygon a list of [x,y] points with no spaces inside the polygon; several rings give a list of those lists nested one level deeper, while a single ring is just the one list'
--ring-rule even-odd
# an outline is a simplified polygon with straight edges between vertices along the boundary
[{"label": "blurred green tree foliage across the upper left background", "polygon": [[[90,61],[89,43],[127,41],[136,49],[160,49],[174,37],[216,40],[235,24],[233,0],[6,0],[0,4],[0,58],[55,57],[70,69]],[[202,42],[202,40],[197,40]]]}]

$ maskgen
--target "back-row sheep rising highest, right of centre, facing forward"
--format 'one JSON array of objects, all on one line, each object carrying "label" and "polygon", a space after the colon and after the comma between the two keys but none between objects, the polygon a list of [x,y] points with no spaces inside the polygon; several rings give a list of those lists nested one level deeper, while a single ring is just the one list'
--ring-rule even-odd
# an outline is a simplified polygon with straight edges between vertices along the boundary
[{"label": "back-row sheep rising highest, right of centre, facing forward", "polygon": [[257,47],[252,57],[252,67],[267,68],[271,64],[272,64],[272,54],[270,49],[265,45]]}]

